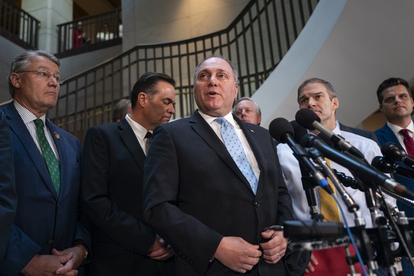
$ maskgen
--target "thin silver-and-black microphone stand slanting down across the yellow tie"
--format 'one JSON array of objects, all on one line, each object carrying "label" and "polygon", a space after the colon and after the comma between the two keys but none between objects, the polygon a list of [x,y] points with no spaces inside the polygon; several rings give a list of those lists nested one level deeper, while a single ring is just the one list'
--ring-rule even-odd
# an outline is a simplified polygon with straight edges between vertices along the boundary
[{"label": "thin silver-and-black microphone stand slanting down across the yellow tie", "polygon": [[[368,271],[371,275],[373,273],[373,270],[378,269],[378,263],[374,260],[373,249],[371,247],[370,239],[365,228],[365,221],[361,216],[361,212],[358,211],[358,204],[356,204],[354,202],[354,199],[352,199],[349,195],[349,193],[345,191],[344,186],[342,186],[341,182],[336,177],[336,174],[332,172],[331,168],[327,164],[327,161],[324,160],[322,154],[314,147],[310,147],[308,149],[308,152],[312,159],[314,159],[314,161],[322,167],[326,176],[329,177],[329,179],[331,179],[336,191],[338,191],[341,194],[341,198],[346,204],[348,211],[350,213],[354,213],[354,222],[356,225],[355,234],[359,238],[361,248],[363,249],[361,255],[363,255],[364,257],[363,260],[366,260]],[[352,258],[350,254],[351,253],[349,252],[348,248],[346,248],[346,258],[349,263],[349,266],[351,267],[351,272],[353,273],[352,275],[355,275],[354,263],[356,262],[356,260],[354,260],[354,258]]]}]

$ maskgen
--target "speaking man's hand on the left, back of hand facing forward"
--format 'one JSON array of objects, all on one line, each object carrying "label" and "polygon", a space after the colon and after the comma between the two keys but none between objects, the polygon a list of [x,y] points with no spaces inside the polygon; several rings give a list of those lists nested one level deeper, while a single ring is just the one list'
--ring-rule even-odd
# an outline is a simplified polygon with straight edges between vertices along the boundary
[{"label": "speaking man's hand on the left, back of hand facing forward", "polygon": [[259,245],[252,245],[239,237],[224,237],[218,244],[214,258],[230,270],[245,273],[252,270],[261,255]]}]

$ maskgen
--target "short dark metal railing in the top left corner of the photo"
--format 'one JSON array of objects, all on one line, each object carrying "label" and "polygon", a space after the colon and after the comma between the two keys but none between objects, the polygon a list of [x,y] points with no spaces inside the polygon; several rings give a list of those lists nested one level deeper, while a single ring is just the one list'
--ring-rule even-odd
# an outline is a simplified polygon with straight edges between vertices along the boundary
[{"label": "short dark metal railing in the top left corner of the photo", "polygon": [[10,0],[0,0],[0,36],[23,48],[36,49],[40,23]]}]

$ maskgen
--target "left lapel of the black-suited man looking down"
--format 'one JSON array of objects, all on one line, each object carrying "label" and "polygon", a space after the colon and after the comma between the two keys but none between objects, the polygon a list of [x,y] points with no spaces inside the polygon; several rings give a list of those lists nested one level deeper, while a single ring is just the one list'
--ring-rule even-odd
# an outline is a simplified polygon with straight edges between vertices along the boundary
[{"label": "left lapel of the black-suited man looking down", "polygon": [[137,140],[137,136],[127,122],[127,119],[124,118],[121,122],[118,123],[118,131],[120,132],[125,146],[129,152],[131,152],[139,168],[144,171],[144,161],[146,156],[144,154],[144,150]]}]

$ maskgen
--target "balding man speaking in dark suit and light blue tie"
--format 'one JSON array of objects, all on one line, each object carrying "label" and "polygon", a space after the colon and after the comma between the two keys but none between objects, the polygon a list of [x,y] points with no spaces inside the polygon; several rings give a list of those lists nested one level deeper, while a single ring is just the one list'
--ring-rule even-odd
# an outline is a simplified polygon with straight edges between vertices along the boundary
[{"label": "balding man speaking in dark suit and light blue tie", "polygon": [[[229,60],[204,60],[194,74],[199,110],[154,130],[144,218],[176,250],[176,275],[289,275],[287,240],[265,228],[292,219],[291,198],[267,129],[231,114],[237,82]],[[217,119],[242,142],[253,185],[223,144]]]}]

